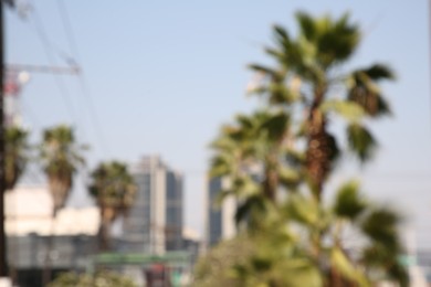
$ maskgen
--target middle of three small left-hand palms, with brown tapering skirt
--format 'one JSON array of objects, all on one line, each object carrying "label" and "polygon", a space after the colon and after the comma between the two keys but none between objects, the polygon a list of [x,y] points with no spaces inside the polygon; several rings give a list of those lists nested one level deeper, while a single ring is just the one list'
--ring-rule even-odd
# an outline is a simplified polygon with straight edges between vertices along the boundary
[{"label": "middle of three small left-hand palms, with brown tapering skirt", "polygon": [[85,163],[82,156],[85,149],[85,146],[76,144],[70,126],[60,125],[43,132],[40,157],[53,199],[53,217],[67,200],[77,167]]}]

